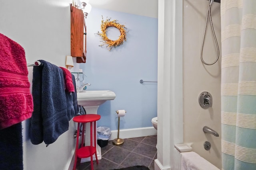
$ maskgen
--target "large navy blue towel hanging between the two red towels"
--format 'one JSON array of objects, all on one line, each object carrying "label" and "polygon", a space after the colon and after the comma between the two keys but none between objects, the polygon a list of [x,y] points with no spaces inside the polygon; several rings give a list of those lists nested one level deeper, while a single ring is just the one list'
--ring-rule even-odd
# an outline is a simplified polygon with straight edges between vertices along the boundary
[{"label": "large navy blue towel hanging between the two red towels", "polygon": [[[34,111],[30,119],[30,141],[38,145],[54,143],[69,127],[63,71],[58,66],[39,60],[34,66],[32,96]],[[73,104],[72,104],[73,105]],[[74,111],[74,107],[73,107]]]}]

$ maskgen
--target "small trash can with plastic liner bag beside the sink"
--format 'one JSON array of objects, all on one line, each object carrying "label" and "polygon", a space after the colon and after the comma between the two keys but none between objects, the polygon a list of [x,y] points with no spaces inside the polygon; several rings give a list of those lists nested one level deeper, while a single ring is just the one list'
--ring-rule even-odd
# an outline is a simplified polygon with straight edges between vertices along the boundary
[{"label": "small trash can with plastic liner bag beside the sink", "polygon": [[108,139],[111,136],[111,131],[109,127],[97,127],[97,143],[102,147],[106,147],[108,145]]}]

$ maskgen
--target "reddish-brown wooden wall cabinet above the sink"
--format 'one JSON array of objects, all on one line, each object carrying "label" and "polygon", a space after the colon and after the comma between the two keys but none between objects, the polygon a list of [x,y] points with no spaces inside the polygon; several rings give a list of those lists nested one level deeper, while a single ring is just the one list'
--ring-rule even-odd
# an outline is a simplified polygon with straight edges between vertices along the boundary
[{"label": "reddish-brown wooden wall cabinet above the sink", "polygon": [[82,10],[70,4],[71,10],[71,56],[76,63],[86,63],[86,23]]}]

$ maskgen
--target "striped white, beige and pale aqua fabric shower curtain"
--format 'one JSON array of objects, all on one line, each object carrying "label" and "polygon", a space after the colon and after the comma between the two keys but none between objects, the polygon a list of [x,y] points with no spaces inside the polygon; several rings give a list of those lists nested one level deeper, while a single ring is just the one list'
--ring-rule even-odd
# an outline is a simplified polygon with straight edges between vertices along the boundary
[{"label": "striped white, beige and pale aqua fabric shower curtain", "polygon": [[256,170],[256,0],[221,1],[222,170]]}]

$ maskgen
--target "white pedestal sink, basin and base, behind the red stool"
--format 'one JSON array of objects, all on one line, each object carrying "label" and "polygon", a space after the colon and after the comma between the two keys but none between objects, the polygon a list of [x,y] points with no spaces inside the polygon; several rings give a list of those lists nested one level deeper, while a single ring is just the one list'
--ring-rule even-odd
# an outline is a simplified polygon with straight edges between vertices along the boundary
[{"label": "white pedestal sink, basin and base, behind the red stool", "polygon": [[[107,100],[114,100],[116,94],[110,90],[84,90],[77,93],[78,105],[83,106],[86,114],[97,114],[98,107]],[[86,123],[86,129],[90,129],[90,124]],[[97,134],[96,134],[97,135]],[[85,145],[90,145],[90,131],[86,131]],[[101,149],[97,146],[97,157],[101,159]],[[93,160],[96,160],[93,156]],[[82,158],[81,162],[89,162],[89,158]]]}]

